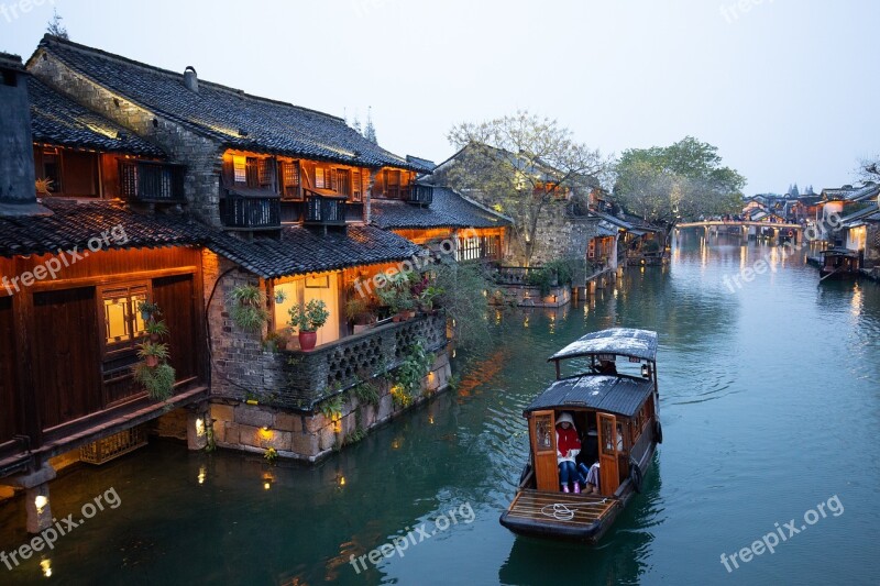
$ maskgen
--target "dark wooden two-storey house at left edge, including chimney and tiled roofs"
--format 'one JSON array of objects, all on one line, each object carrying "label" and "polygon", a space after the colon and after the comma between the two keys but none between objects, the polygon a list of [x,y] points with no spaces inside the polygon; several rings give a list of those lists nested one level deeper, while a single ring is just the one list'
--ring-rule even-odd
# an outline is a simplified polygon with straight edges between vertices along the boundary
[{"label": "dark wooden two-storey house at left edge, including chimney and tiled roofs", "polygon": [[[18,57],[0,55],[0,484],[28,490],[37,531],[52,523],[58,458],[108,438],[117,453],[132,447],[169,409],[191,406],[195,428],[208,397],[208,232],[134,211],[183,197],[163,151],[31,78]],[[150,170],[132,179],[132,168]],[[168,330],[163,402],[133,376],[142,302],[162,308]]]}]

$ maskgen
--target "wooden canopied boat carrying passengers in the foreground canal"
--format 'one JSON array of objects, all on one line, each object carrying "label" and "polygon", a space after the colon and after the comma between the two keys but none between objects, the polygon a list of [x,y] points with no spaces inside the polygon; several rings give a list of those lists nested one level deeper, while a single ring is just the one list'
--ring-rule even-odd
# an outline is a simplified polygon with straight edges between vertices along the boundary
[{"label": "wooden canopied boat carrying passengers in the foreground canal", "polygon": [[[548,358],[557,379],[524,411],[529,461],[501,517],[504,527],[590,543],[602,538],[641,490],[662,441],[656,357],[656,332],[614,328],[586,334]],[[556,421],[563,412],[573,417],[581,439],[578,463],[600,464],[598,495],[560,491]]]}]

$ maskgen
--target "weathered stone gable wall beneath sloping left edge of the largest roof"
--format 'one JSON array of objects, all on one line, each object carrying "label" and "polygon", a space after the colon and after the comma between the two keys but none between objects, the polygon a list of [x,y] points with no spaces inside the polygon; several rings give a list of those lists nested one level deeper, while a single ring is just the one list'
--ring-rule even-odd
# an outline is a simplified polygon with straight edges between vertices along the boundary
[{"label": "weathered stone gable wall beneath sloping left edge of the largest roof", "polygon": [[[220,225],[220,173],[223,150],[155,112],[135,106],[82,77],[54,56],[32,59],[31,74],[56,91],[129,129],[168,153],[172,163],[186,165],[184,191],[188,211]],[[180,76],[183,84],[183,74]]]}]

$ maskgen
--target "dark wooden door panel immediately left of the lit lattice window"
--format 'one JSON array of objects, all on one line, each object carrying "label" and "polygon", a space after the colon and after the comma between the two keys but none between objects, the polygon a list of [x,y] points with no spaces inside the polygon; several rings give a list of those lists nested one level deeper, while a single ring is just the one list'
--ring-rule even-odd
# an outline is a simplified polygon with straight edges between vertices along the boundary
[{"label": "dark wooden door panel immediately left of the lit lattice window", "polygon": [[33,376],[43,429],[103,408],[95,288],[34,294]]}]

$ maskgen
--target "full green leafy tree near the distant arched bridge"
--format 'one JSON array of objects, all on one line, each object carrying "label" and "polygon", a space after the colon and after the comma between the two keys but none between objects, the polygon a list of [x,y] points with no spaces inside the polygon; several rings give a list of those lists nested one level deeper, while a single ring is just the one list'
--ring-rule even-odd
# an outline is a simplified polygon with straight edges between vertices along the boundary
[{"label": "full green leafy tree near the distant arched bridge", "polygon": [[627,210],[671,231],[681,218],[733,213],[746,179],[722,165],[718,148],[693,136],[670,146],[624,151],[614,195]]}]

